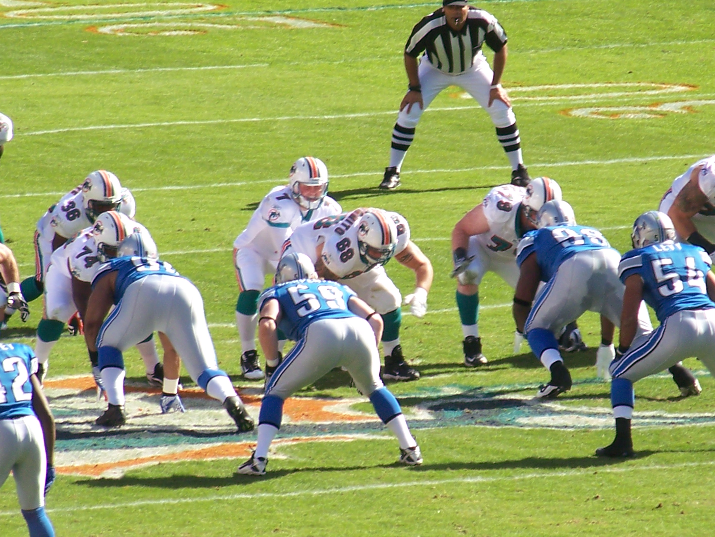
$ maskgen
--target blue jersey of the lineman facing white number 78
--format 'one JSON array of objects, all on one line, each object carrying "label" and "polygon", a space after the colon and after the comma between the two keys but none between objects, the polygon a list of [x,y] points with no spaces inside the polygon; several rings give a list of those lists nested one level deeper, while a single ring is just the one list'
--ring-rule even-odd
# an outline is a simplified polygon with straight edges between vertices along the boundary
[{"label": "blue jersey of the lineman facing white number 78", "polygon": [[521,264],[536,252],[536,262],[541,268],[541,280],[548,282],[561,263],[578,252],[610,248],[606,237],[593,227],[554,226],[542,227],[524,235],[516,251],[516,263]]}]

